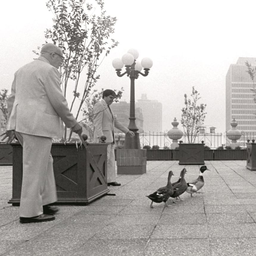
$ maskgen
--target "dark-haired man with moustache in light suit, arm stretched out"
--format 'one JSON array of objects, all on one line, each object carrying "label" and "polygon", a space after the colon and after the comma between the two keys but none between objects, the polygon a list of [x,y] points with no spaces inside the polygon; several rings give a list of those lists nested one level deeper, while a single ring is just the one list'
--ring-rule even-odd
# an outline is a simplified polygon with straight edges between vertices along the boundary
[{"label": "dark-haired man with moustache in light suit, arm stretched out", "polygon": [[114,127],[121,130],[124,133],[128,133],[131,137],[134,136],[134,132],[124,127],[113,115],[110,105],[113,103],[116,94],[113,90],[107,89],[103,91],[102,100],[97,102],[93,108],[93,125],[94,141],[100,142],[101,136],[106,137],[106,142],[110,142],[107,146],[107,185],[108,186],[120,186],[120,183],[115,181],[115,136]]}]

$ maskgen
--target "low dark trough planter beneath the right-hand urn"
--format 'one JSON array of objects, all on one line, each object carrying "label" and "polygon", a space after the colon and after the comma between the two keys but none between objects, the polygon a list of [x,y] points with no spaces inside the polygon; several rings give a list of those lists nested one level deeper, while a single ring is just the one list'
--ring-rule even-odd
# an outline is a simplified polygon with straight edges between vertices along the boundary
[{"label": "low dark trough planter beneath the right-hand urn", "polygon": [[246,150],[244,149],[214,150],[214,160],[246,160]]}]

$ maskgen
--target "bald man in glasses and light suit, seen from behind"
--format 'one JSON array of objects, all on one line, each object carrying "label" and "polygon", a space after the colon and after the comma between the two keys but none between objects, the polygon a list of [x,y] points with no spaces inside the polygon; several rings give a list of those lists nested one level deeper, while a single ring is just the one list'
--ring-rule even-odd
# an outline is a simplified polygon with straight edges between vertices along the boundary
[{"label": "bald man in glasses and light suit, seen from behind", "polygon": [[52,138],[62,138],[63,122],[82,133],[60,88],[58,68],[63,52],[46,43],[41,56],[21,67],[14,75],[8,98],[7,143],[16,136],[23,147],[23,177],[20,222],[54,220],[57,193],[51,157]]}]

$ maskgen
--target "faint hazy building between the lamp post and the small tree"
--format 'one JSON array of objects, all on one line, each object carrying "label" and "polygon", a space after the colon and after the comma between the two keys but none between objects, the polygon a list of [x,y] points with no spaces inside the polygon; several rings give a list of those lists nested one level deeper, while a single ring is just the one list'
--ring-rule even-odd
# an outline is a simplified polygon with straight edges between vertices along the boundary
[{"label": "faint hazy building between the lamp post and the small tree", "polygon": [[162,132],[162,103],[157,100],[147,99],[146,93],[141,94],[141,99],[135,102],[143,114],[144,132]]}]

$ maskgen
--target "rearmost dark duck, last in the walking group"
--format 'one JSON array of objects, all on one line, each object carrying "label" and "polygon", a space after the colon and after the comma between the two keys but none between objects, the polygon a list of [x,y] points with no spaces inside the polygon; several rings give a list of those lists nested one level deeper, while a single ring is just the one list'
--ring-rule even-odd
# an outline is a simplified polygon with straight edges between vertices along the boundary
[{"label": "rearmost dark duck, last in the walking group", "polygon": [[171,176],[174,175],[172,171],[169,171],[168,179],[167,179],[167,185],[163,188],[158,188],[157,191],[150,194],[148,197],[150,200],[152,200],[150,208],[153,207],[153,202],[155,203],[161,203],[164,202],[166,206],[169,206],[166,204],[166,201],[169,199],[169,197],[173,194],[173,188],[171,185]]}]

